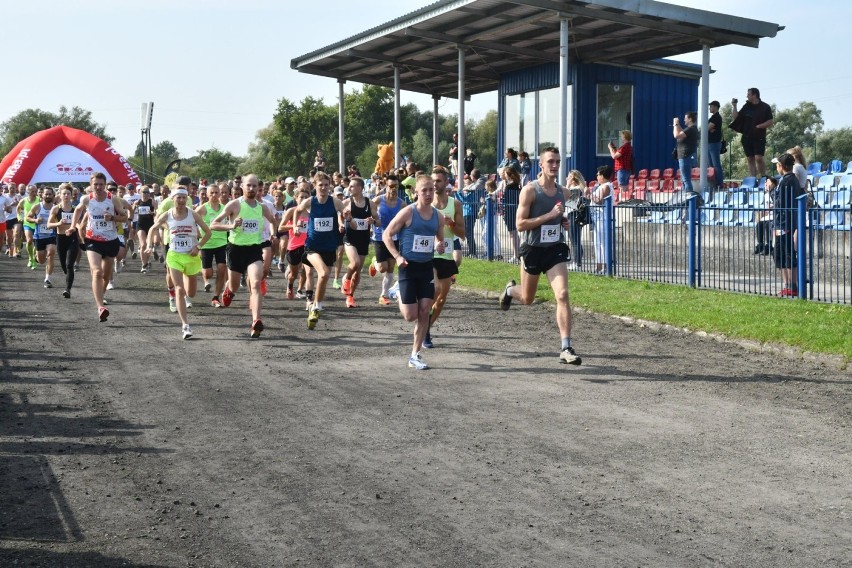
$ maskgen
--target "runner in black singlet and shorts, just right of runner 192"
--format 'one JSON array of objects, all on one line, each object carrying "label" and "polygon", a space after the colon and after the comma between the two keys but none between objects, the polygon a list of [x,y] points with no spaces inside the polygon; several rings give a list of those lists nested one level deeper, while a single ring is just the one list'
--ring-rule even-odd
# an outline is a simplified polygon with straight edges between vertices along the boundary
[{"label": "runner in black singlet and shorts, just right of runner 192", "polygon": [[370,202],[364,197],[364,180],[355,177],[349,181],[349,199],[343,206],[349,211],[349,221],[346,223],[346,234],[343,244],[346,247],[346,257],[349,266],[343,277],[341,289],[346,296],[346,307],[355,308],[355,289],[361,281],[361,268],[364,259],[370,252],[370,226],[378,223],[378,215],[370,207]]}]

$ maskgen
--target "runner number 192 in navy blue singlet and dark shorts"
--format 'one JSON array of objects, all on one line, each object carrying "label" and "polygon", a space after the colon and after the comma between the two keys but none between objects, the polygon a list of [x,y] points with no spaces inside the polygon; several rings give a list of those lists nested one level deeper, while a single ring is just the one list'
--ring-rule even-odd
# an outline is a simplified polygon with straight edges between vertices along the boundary
[{"label": "runner number 192 in navy blue singlet and dark shorts", "polygon": [[[309,214],[305,260],[317,271],[317,288],[314,292],[314,301],[308,310],[308,329],[316,327],[323,310],[325,289],[337,256],[340,227],[349,216],[349,212],[343,210],[343,203],[331,195],[331,181],[328,174],[317,172],[314,176],[314,187],[317,190],[316,196],[304,200],[296,207],[297,215]],[[294,235],[300,232],[297,226]]]}]

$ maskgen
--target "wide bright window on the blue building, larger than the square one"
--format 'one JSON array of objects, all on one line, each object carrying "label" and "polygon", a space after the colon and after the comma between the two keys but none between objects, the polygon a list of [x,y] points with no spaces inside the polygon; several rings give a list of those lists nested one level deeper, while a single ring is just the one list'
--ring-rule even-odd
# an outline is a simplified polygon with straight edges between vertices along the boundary
[{"label": "wide bright window on the blue building, larger than the square one", "polygon": [[[568,109],[571,108],[571,89],[568,89]],[[559,87],[506,96],[506,129],[504,148],[525,151],[533,161],[548,146],[559,146],[560,132]],[[571,140],[571,115],[568,115],[568,140]],[[570,144],[570,142],[569,142]],[[560,148],[565,152],[564,148]],[[565,152],[570,155],[571,152]],[[501,152],[502,155],[502,152]]]}]

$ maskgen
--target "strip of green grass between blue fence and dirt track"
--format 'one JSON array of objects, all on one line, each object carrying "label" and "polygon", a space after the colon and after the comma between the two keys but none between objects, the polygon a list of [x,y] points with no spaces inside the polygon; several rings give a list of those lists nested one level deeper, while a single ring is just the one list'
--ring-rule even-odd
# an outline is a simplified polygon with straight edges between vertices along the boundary
[{"label": "strip of green grass between blue fence and dirt track", "polygon": [[[458,283],[499,292],[518,267],[466,258]],[[572,306],[852,359],[852,307],[571,273]],[[537,299],[552,302],[547,278]]]}]

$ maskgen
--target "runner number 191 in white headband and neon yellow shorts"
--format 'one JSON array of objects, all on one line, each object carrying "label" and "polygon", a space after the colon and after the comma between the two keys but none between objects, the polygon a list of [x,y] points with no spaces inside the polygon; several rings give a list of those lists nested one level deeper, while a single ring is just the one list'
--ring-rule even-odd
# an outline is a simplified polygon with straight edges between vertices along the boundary
[{"label": "runner number 191 in white headband and neon yellow shorts", "polygon": [[[152,233],[164,227],[169,232],[169,251],[166,253],[166,267],[172,275],[177,297],[177,313],[180,317],[181,333],[184,339],[192,337],[192,328],[186,317],[186,298],[195,297],[198,287],[198,273],[201,272],[200,247],[210,239],[210,227],[201,215],[187,207],[189,192],[181,185],[172,193],[174,207],[157,217],[149,232],[147,247],[153,246]],[[204,233],[198,240],[198,229]]]}]

